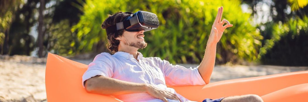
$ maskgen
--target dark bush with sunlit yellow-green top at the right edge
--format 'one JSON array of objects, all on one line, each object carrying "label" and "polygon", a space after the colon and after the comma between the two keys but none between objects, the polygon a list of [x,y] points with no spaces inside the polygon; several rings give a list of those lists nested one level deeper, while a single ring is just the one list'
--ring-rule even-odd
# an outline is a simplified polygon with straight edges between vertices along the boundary
[{"label": "dark bush with sunlit yellow-green top at the right edge", "polygon": [[258,58],[264,64],[308,66],[308,18],[296,17],[270,28],[272,35],[260,48]]}]

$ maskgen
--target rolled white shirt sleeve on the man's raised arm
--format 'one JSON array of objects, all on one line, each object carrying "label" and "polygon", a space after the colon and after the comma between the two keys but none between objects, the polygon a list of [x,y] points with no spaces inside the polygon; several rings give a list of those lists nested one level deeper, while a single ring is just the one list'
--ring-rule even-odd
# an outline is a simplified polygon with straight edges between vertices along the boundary
[{"label": "rolled white shirt sleeve on the man's raised arm", "polygon": [[196,68],[185,68],[180,65],[172,65],[166,60],[156,57],[158,66],[165,75],[167,85],[184,86],[184,85],[205,85],[199,71]]}]

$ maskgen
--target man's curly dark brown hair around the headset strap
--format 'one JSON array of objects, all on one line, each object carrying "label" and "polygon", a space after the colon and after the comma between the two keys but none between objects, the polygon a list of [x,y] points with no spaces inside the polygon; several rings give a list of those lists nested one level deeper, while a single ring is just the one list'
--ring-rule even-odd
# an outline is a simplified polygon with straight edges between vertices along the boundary
[{"label": "man's curly dark brown hair around the headset strap", "polygon": [[[102,28],[106,29],[110,27],[111,25],[115,25],[116,23],[123,21],[124,18],[128,16],[130,16],[130,14],[125,13],[125,12],[117,12],[115,14],[108,15],[106,20],[102,23]],[[121,29],[116,32],[107,34],[107,39],[108,39],[107,48],[109,51],[111,51],[111,53],[114,54],[115,52],[118,51],[120,40],[116,40],[115,38],[118,36],[122,36],[123,32],[124,32],[124,29]]]}]

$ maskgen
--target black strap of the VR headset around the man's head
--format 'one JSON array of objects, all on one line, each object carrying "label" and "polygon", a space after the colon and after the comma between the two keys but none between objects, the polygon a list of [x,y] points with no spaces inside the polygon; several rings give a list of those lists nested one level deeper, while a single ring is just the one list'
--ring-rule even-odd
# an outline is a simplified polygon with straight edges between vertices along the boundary
[{"label": "black strap of the VR headset around the man's head", "polygon": [[129,20],[125,20],[119,23],[116,23],[115,25],[111,25],[110,27],[106,28],[107,34],[116,32],[117,30],[121,30],[124,28],[127,28],[131,26],[131,22]]}]

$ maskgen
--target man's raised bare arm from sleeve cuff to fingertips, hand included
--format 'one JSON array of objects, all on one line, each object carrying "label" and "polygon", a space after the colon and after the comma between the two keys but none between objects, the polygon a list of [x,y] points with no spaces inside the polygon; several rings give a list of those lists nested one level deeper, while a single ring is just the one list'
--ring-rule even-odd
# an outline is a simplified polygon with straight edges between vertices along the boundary
[{"label": "man's raised bare arm from sleeve cuff to fingertips, hand included", "polygon": [[[198,67],[198,71],[205,84],[209,84],[211,79],[211,75],[215,65],[217,43],[221,39],[221,36],[225,29],[233,26],[229,23],[229,21],[225,19],[221,21],[222,12],[223,7],[220,7],[218,9],[218,13],[212,26],[209,40],[206,45],[204,57],[202,59],[202,62],[200,63],[200,66]],[[225,23],[227,23],[227,25],[223,26]]]}]

